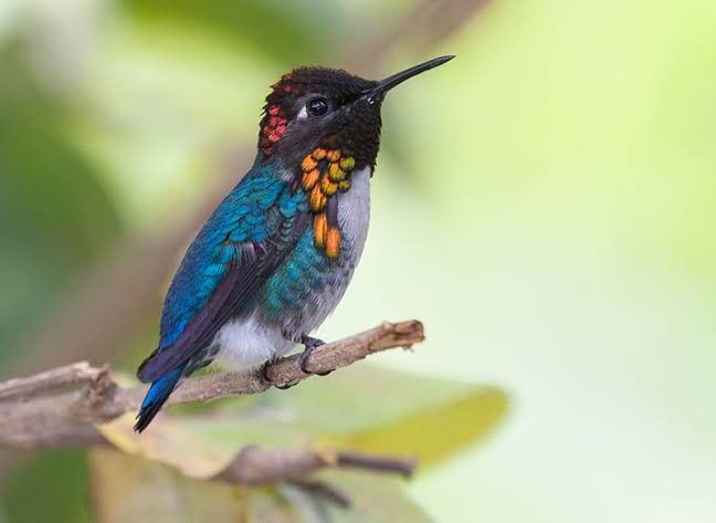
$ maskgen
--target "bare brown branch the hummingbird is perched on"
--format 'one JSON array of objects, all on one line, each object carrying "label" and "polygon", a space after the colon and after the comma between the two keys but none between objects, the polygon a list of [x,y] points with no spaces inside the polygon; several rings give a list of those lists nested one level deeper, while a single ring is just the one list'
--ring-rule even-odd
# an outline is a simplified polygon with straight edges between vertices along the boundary
[{"label": "bare brown branch the hummingbird is perched on", "polygon": [[[308,359],[313,373],[326,373],[350,365],[380,351],[410,347],[424,339],[422,323],[412,320],[385,322],[369,331],[317,347]],[[266,368],[266,381],[259,373],[215,374],[187,379],[169,404],[211,401],[240,394],[262,393],[276,384],[298,383],[304,374],[299,355],[278,359]],[[87,446],[103,441],[94,423],[110,421],[135,411],[147,386],[119,387],[108,367],[78,363],[0,384],[0,447],[38,449]],[[351,463],[344,457],[346,466]],[[364,462],[365,464],[365,462]]]}]

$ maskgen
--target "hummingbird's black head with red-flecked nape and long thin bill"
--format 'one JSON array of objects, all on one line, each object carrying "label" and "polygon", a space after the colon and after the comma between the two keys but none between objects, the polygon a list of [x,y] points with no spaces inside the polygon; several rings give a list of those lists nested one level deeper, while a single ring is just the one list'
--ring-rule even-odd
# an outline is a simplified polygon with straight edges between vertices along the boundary
[{"label": "hummingbird's black head with red-flecked nape and long thin bill", "polygon": [[[344,171],[372,168],[386,93],[452,57],[441,56],[381,81],[327,67],[299,67],[284,74],[266,97],[259,135],[260,156],[277,156],[289,167],[303,164],[304,172],[315,167],[306,159],[312,155],[317,163],[333,161],[338,167],[343,160]],[[339,176],[335,178],[341,181]]]}]

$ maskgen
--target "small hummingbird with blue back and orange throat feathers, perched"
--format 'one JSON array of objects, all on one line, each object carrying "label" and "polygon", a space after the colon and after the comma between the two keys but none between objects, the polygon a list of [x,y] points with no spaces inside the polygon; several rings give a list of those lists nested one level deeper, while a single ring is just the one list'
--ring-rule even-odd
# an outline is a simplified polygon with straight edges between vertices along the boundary
[{"label": "small hummingbird with blue back and orange throat feathers, perched", "polygon": [[[264,369],[314,332],[341,300],[368,234],[370,179],[389,90],[452,60],[385,80],[298,67],[272,85],[255,160],[189,245],[164,303],[159,344],[137,369],[151,383],[135,430],[181,379],[212,363]],[[264,373],[265,376],[265,373]]]}]

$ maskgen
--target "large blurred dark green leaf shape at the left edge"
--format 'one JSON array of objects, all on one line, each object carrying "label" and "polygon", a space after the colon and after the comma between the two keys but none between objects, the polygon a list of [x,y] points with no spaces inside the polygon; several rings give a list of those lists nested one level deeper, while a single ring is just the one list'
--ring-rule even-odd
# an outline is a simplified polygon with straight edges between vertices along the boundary
[{"label": "large blurred dark green leaf shape at the left edge", "polygon": [[11,51],[0,54],[0,77],[1,362],[119,223],[98,172],[71,145],[62,107]]}]

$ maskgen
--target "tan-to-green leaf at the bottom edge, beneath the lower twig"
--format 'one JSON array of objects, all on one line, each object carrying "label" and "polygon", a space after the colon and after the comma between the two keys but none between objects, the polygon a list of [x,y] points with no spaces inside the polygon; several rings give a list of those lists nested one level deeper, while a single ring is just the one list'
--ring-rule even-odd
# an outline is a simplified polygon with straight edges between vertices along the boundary
[{"label": "tan-to-green leaf at the bottom edge, beneath the lower twig", "polygon": [[330,472],[320,480],[350,498],[349,509],[293,484],[238,487],[187,478],[171,468],[98,449],[90,458],[96,523],[428,523],[394,479]]}]

